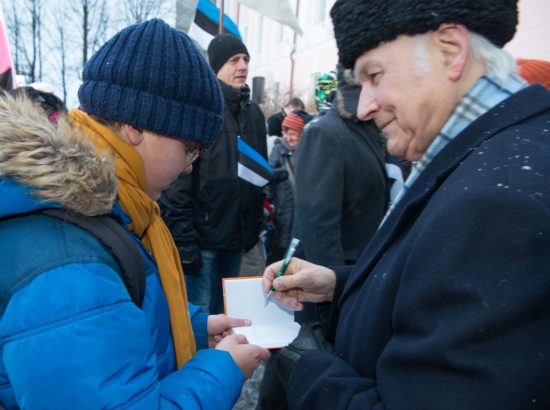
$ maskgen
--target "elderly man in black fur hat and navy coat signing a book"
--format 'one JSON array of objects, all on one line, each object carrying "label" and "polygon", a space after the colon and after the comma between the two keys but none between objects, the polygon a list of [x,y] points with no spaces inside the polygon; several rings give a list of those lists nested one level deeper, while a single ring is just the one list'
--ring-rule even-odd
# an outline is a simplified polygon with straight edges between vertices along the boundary
[{"label": "elderly man in black fur hat and navy coat signing a book", "polygon": [[517,1],[338,0],[331,16],[358,116],[416,163],[353,269],[293,260],[273,282],[288,306],[332,302],[334,351],[279,353],[290,407],[550,408],[550,93],[501,50]]}]

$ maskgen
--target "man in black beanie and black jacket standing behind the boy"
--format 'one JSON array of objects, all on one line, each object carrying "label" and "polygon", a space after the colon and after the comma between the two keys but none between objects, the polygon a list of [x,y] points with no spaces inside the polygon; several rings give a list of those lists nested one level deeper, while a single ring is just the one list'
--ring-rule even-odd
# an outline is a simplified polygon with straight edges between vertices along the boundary
[{"label": "man in black beanie and black jacket standing behind the boy", "polygon": [[[189,300],[221,313],[222,278],[238,276],[244,252],[259,242],[267,180],[247,171],[262,160],[267,165],[267,144],[265,118],[246,84],[246,46],[236,36],[220,34],[207,52],[224,97],[222,129],[193,172],[181,175],[160,203],[181,256]],[[243,155],[253,164],[243,168]]]}]

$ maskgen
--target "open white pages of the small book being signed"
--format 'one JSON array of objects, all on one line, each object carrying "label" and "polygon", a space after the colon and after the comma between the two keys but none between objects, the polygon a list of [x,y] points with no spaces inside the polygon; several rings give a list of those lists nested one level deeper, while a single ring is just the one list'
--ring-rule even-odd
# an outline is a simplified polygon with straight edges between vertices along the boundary
[{"label": "open white pages of the small book being signed", "polygon": [[261,277],[223,279],[225,313],[227,316],[250,319],[251,326],[235,327],[248,342],[266,348],[284,347],[294,340],[300,325],[294,322],[294,312],[285,309],[272,297],[266,304]]}]

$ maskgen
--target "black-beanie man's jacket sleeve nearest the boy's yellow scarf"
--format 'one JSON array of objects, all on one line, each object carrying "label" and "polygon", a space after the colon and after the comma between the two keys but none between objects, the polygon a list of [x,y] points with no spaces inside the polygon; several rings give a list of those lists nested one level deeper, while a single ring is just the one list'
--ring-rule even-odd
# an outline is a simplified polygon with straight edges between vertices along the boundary
[{"label": "black-beanie man's jacket sleeve nearest the boy's yellow scarf", "polygon": [[192,195],[193,174],[180,174],[159,200],[162,218],[174,238],[184,268],[186,265],[201,266]]}]

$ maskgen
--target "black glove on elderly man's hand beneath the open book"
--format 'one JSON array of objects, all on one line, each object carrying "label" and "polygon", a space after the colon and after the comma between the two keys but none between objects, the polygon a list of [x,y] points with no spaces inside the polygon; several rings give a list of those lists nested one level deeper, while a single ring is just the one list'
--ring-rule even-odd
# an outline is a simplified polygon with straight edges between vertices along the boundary
[{"label": "black glove on elderly man's hand beneath the open book", "polygon": [[326,340],[326,330],[320,322],[304,323],[296,339],[277,353],[277,370],[285,390],[296,363],[306,350],[334,351],[332,344]]}]

